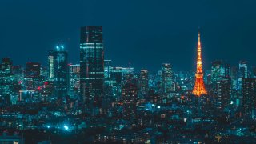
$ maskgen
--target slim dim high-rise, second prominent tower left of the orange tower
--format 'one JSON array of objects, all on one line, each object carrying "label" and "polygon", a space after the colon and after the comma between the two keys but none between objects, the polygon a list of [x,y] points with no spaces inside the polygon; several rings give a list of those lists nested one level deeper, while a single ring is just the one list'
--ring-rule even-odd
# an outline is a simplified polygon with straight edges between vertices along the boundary
[{"label": "slim dim high-rise, second prominent tower left of the orange tower", "polygon": [[138,78],[138,97],[144,98],[149,91],[149,73],[148,70],[141,70]]}]

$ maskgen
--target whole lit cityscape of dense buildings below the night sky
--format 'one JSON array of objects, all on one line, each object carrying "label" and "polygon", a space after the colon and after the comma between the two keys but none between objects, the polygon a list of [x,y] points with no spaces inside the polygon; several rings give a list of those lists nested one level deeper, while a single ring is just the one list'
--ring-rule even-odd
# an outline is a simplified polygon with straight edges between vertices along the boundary
[{"label": "whole lit cityscape of dense buildings below the night sky", "polygon": [[0,143],[256,142],[255,66],[216,60],[203,72],[198,34],[196,73],[151,73],[106,60],[102,26],[80,34],[76,64],[62,44],[47,66],[2,58]]}]

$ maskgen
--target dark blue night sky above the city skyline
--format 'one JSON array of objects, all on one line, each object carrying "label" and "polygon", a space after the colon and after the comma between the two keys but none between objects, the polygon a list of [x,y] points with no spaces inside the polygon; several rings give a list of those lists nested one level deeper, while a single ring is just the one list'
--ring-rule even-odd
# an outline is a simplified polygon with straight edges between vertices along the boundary
[{"label": "dark blue night sky above the city skyline", "polygon": [[255,0],[1,0],[0,57],[46,63],[64,42],[79,62],[80,26],[103,26],[105,57],[116,66],[195,70],[198,26],[204,69],[223,59],[256,64]]}]

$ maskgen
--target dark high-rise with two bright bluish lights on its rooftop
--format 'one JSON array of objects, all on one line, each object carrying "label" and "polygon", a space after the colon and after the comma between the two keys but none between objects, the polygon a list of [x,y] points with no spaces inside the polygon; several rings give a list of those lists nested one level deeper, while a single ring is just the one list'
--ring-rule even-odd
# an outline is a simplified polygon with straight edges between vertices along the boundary
[{"label": "dark high-rise with two bright bluish lights on its rooftop", "polygon": [[66,97],[68,91],[68,61],[64,46],[56,46],[52,52],[54,71],[54,94],[58,98]]}]

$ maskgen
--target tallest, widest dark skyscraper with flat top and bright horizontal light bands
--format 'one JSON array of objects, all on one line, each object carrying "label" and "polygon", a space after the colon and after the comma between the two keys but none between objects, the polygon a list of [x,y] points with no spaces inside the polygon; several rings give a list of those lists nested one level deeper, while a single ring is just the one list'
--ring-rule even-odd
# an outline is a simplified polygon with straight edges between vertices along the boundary
[{"label": "tallest, widest dark skyscraper with flat top and bright horizontal light bands", "polygon": [[80,37],[80,93],[88,106],[102,106],[104,50],[102,26],[83,26]]}]

